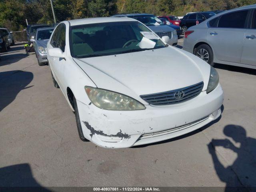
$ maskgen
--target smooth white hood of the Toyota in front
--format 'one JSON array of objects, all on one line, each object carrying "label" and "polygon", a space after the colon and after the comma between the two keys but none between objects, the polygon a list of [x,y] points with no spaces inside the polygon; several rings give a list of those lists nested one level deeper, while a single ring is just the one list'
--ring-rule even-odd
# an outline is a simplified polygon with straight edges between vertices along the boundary
[{"label": "smooth white hood of the Toyota in front", "polygon": [[[184,88],[204,81],[206,90],[210,65],[174,47],[100,56],[74,58],[98,88],[140,100],[140,95]],[[140,100],[142,102],[142,100]]]}]

